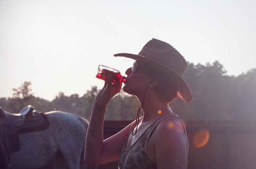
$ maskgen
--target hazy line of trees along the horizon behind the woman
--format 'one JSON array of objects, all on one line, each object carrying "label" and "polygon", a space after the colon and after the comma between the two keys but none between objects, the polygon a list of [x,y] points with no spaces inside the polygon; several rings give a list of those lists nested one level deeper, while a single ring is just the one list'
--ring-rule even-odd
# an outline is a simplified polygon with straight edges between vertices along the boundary
[{"label": "hazy line of trees along the horizon behind the woman", "polygon": [[[183,120],[256,120],[256,69],[229,76],[218,61],[206,65],[188,63],[182,77],[192,91],[193,100],[186,103],[176,99],[170,107]],[[0,98],[0,106],[18,113],[23,107],[32,105],[38,111],[60,110],[89,120],[95,96],[100,90],[92,86],[81,97],[60,92],[50,102],[34,96],[31,85],[30,81],[25,81],[19,88],[13,88],[13,96]],[[134,120],[139,106],[135,96],[121,90],[108,103],[105,120]]]}]

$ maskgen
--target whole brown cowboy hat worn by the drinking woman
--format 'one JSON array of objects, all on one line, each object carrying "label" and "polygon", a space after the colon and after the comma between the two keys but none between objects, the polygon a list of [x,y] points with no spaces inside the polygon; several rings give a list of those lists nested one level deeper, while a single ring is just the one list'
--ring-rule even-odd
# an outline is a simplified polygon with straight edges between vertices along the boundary
[{"label": "whole brown cowboy hat worn by the drinking woman", "polygon": [[141,49],[139,54],[117,53],[114,56],[123,56],[138,59],[149,63],[166,74],[179,88],[178,95],[185,102],[192,100],[192,93],[188,84],[181,75],[187,68],[187,62],[183,56],[171,45],[158,39],[151,39]]}]

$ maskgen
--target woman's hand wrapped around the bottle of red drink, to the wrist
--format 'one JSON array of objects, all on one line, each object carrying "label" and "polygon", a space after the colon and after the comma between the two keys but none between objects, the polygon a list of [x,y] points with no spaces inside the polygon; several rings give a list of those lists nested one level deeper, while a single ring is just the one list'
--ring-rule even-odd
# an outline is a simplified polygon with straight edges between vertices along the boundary
[{"label": "woman's hand wrapped around the bottle of red drink, to the wrist", "polygon": [[96,95],[95,102],[107,105],[110,99],[120,92],[122,82],[118,81],[112,84],[112,75],[108,74],[107,81],[105,81],[103,88]]}]

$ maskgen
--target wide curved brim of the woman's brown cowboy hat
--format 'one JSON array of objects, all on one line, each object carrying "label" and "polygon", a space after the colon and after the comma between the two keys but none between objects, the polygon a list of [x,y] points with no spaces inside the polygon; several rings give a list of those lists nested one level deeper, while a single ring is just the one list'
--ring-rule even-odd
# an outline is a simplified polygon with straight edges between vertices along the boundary
[{"label": "wide curved brim of the woman's brown cowboy hat", "polygon": [[152,60],[152,59],[146,58],[145,56],[141,56],[137,54],[117,53],[117,54],[114,54],[114,56],[116,57],[121,56],[121,57],[131,58],[134,60],[136,59],[142,60],[158,69],[161,67],[163,72],[168,72],[168,75],[170,76],[170,78],[178,84],[177,85],[179,88],[178,95],[180,96],[180,98],[185,102],[190,102],[192,100],[192,93],[186,81],[184,81],[184,79],[179,74],[177,74],[175,71],[173,71],[169,67],[166,67],[165,65],[159,62],[156,62],[155,60]]}]

